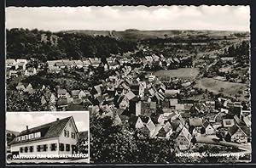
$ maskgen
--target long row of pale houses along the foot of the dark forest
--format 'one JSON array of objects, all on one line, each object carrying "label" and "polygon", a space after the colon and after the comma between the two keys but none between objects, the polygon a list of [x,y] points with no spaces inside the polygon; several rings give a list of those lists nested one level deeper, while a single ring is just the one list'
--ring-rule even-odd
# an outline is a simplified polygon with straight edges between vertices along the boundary
[{"label": "long row of pale houses along the foot of the dark forest", "polygon": [[105,70],[117,70],[120,66],[124,64],[131,64],[131,65],[143,65],[143,68],[148,67],[152,68],[153,66],[160,66],[162,68],[167,69],[168,67],[178,68],[178,67],[191,67],[192,60],[191,59],[166,59],[163,55],[151,55],[145,56],[142,59],[134,58],[134,57],[125,57],[125,58],[114,58],[109,57],[106,61],[102,61],[100,58],[86,58],[83,60],[68,60],[68,59],[61,59],[61,60],[51,60],[47,61],[48,72],[49,73],[60,73],[61,70],[67,68],[78,68],[84,69],[84,71],[89,70],[89,66],[98,67],[100,65],[104,66]]}]

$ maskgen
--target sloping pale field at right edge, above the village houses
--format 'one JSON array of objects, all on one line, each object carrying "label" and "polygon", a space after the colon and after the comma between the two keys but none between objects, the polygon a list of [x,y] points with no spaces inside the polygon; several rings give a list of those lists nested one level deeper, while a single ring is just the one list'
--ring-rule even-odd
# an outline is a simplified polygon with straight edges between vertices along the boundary
[{"label": "sloping pale field at right edge, above the village houses", "polygon": [[[213,93],[223,93],[225,96],[231,96],[235,98],[238,91],[243,92],[247,86],[242,83],[235,83],[229,81],[218,81],[212,78],[202,78],[201,80],[196,81],[195,87],[201,88],[203,90],[208,90]],[[241,95],[240,98],[243,98]]]}]

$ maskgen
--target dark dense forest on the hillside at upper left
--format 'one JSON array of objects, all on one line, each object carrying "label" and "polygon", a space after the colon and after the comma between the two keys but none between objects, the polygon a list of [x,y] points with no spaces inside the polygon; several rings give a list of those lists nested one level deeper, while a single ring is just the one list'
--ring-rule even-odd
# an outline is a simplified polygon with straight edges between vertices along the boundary
[{"label": "dark dense forest on the hillside at upper left", "polygon": [[[42,41],[42,35],[47,36]],[[51,37],[57,40],[51,42]],[[109,36],[11,29],[6,31],[8,59],[39,59],[43,62],[54,59],[107,58],[110,54],[134,51],[135,42],[117,40]]]}]

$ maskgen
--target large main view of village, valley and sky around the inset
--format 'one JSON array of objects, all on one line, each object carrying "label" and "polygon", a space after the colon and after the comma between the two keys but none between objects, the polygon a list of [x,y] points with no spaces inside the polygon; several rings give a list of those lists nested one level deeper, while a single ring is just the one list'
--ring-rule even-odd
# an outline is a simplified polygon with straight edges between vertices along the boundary
[{"label": "large main view of village, valley and sky around the inset", "polygon": [[251,162],[249,12],[9,7],[7,113],[89,111],[92,164]]}]

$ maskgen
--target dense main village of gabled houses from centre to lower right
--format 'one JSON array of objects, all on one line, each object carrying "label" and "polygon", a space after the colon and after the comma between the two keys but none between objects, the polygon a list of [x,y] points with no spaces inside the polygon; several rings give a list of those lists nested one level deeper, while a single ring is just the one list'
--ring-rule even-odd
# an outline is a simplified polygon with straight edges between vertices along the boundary
[{"label": "dense main village of gabled houses from centre to lower right", "polygon": [[[220,128],[224,128],[227,141],[250,142],[250,110],[243,110],[241,102],[232,103],[229,99],[223,102],[223,98],[203,102],[179,100],[175,98],[178,91],[166,89],[156,76],[148,76],[146,81],[132,79],[131,74],[136,72],[126,67],[95,86],[90,92],[93,104],[90,113],[110,116],[114,125],[127,122],[131,128],[143,129],[152,138],[174,136],[180,149],[189,149],[193,137],[216,135]],[[216,104],[221,104],[221,108]],[[213,117],[207,116],[212,111]],[[192,116],[193,112],[205,115]],[[234,125],[226,126],[227,120],[233,120]]]}]

